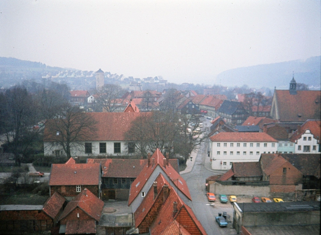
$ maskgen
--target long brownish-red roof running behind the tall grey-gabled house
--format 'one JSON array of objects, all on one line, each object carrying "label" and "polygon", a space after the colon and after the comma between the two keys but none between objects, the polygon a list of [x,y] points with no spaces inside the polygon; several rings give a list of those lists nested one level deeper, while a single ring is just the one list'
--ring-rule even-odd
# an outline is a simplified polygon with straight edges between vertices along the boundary
[{"label": "long brownish-red roof running behind the tall grey-gabled house", "polygon": [[[136,178],[148,160],[87,158],[87,163],[100,163],[103,171],[102,177]],[[169,164],[179,173],[177,159],[169,159]]]}]

